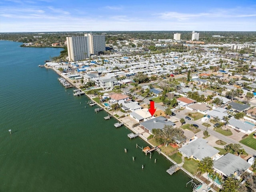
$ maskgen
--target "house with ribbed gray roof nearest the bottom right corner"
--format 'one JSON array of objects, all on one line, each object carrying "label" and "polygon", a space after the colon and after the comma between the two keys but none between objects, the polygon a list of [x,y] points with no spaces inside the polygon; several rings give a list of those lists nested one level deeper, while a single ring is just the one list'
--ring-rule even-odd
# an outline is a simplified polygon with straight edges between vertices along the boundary
[{"label": "house with ribbed gray roof nearest the bottom right corner", "polygon": [[218,160],[215,160],[213,164],[214,170],[216,170],[216,172],[226,177],[232,175],[238,177],[240,171],[245,171],[251,166],[240,156],[236,156],[231,153],[227,153]]}]

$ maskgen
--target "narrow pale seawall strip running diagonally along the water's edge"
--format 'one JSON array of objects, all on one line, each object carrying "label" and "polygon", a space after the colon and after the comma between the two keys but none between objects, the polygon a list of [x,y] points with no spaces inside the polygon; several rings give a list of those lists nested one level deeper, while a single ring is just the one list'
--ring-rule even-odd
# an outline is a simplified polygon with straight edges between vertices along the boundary
[{"label": "narrow pale seawall strip running diagonally along the water's edge", "polygon": [[[69,78],[67,78],[66,76],[62,75],[60,71],[58,71],[55,68],[52,67],[48,67],[46,66],[47,69],[53,69],[59,76],[63,77],[65,80],[67,80],[70,84],[72,84],[74,87],[76,87],[77,89],[80,89],[78,87],[78,85],[74,84],[73,82],[71,82],[71,80]],[[86,94],[85,95],[92,101],[94,97],[91,97],[90,95]],[[118,120],[118,122],[122,122],[124,123],[124,126],[126,126],[126,128],[128,128],[130,131],[132,131],[133,133],[139,133],[136,130],[134,130],[134,128],[128,126],[125,122],[123,122],[122,120],[118,119],[116,116],[114,116],[114,114],[112,114],[110,111],[106,110],[106,108],[104,108],[103,106],[101,106],[99,103],[97,103],[96,101],[94,101],[100,108],[103,108],[108,114],[112,115],[112,117],[114,117],[116,120]],[[151,147],[155,147],[152,143],[150,143],[146,138],[144,138],[140,133],[139,133],[139,137],[144,140],[147,144],[149,144]],[[173,164],[177,164],[174,160],[172,160],[170,157],[168,157],[166,154],[164,154],[162,151],[160,152],[160,154],[162,154],[167,160],[169,160],[170,162],[172,162]],[[160,155],[159,154],[159,155]],[[184,169],[182,166],[180,166],[180,169],[186,173],[190,178],[197,180],[200,183],[204,183],[200,178],[198,178],[197,176],[192,175],[190,172],[188,172],[186,169]],[[209,186],[210,187],[210,186]],[[214,189],[211,189],[213,192],[216,192]]]}]

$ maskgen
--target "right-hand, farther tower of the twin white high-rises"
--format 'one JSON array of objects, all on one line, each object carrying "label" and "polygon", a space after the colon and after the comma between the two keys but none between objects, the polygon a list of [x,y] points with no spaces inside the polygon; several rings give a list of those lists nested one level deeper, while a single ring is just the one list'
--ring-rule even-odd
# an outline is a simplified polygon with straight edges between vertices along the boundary
[{"label": "right-hand, farther tower of the twin white high-rises", "polygon": [[105,35],[96,35],[92,33],[84,34],[88,37],[90,54],[98,54],[106,50]]}]

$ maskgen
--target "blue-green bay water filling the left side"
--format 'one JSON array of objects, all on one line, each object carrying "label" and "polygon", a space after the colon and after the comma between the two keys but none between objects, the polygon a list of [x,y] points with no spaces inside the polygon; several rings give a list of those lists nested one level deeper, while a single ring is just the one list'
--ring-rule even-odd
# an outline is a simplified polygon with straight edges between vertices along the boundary
[{"label": "blue-green bay water filling the left side", "polygon": [[192,191],[184,172],[170,176],[166,158],[150,159],[136,148],[146,142],[38,67],[61,48],[20,45],[0,41],[0,192]]}]

